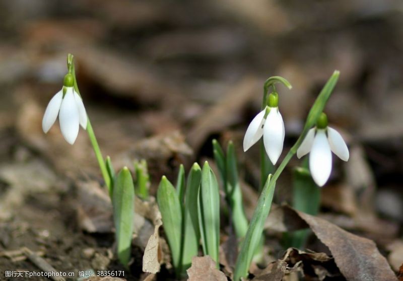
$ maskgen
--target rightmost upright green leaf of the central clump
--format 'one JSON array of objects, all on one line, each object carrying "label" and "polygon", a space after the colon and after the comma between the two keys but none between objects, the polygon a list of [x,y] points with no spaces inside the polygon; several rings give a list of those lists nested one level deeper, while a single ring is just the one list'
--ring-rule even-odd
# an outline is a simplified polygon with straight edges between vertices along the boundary
[{"label": "rightmost upright green leaf of the central clump", "polygon": [[201,246],[219,267],[220,244],[220,194],[217,178],[206,161],[201,172],[201,188],[198,194],[198,220]]}]

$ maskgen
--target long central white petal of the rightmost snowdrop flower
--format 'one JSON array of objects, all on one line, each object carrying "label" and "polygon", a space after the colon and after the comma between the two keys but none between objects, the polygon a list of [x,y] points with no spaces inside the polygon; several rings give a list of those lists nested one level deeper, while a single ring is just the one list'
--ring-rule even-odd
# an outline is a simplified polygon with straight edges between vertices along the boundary
[{"label": "long central white petal of the rightmost snowdrop flower", "polygon": [[331,151],[324,130],[318,130],[309,154],[309,170],[315,183],[323,186],[331,172]]}]

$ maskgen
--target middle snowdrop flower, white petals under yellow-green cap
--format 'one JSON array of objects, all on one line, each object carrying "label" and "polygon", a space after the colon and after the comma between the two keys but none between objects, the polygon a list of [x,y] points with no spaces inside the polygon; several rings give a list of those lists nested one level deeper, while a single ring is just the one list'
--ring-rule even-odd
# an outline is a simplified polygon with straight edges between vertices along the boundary
[{"label": "middle snowdrop flower, white petals under yellow-green cap", "polygon": [[243,139],[243,151],[247,151],[263,136],[264,148],[273,165],[279,160],[283,151],[285,135],[283,117],[278,104],[278,94],[271,93],[268,96],[268,105],[250,122]]}]

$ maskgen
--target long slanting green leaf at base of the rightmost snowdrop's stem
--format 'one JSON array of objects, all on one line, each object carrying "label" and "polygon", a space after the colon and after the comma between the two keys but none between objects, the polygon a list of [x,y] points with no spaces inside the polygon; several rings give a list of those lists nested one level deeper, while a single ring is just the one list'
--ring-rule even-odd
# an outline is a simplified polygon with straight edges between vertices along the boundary
[{"label": "long slanting green leaf at base of the rightmost snowdrop's stem", "polygon": [[264,184],[248,231],[246,232],[245,239],[242,242],[241,251],[239,252],[235,265],[234,280],[236,281],[239,281],[241,277],[246,277],[248,275],[250,262],[252,261],[255,249],[262,237],[264,222],[270,212],[276,186],[276,184],[271,184],[271,188],[269,188],[271,178],[272,175],[269,175]]}]

